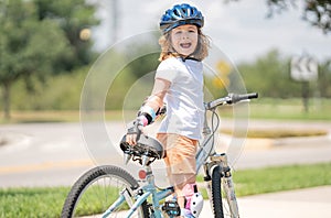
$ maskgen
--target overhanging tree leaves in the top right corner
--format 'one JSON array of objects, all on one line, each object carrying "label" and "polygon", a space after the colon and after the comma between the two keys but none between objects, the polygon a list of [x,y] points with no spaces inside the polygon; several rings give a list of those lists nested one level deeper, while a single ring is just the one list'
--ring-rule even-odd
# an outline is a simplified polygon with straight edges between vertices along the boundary
[{"label": "overhanging tree leaves in the top right corner", "polygon": [[[237,1],[237,0],[232,0]],[[281,13],[290,7],[297,8],[297,0],[267,0],[268,17]],[[331,2],[330,0],[305,0],[302,18],[324,33],[331,32]]]}]

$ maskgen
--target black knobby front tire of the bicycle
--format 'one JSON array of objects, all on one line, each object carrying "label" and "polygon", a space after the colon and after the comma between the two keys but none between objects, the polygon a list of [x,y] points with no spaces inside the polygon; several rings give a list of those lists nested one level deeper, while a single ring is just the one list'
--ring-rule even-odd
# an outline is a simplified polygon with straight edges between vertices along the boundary
[{"label": "black knobby front tire of the bicycle", "polygon": [[215,166],[212,173],[212,206],[216,218],[233,218],[228,201],[223,198],[222,190],[222,175],[220,166]]}]

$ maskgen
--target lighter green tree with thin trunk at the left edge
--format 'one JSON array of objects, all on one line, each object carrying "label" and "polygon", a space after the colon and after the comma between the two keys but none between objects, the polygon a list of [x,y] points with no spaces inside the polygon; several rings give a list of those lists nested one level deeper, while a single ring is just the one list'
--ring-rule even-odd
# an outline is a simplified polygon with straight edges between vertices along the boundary
[{"label": "lighter green tree with thin trunk at the left edge", "polygon": [[12,84],[22,78],[32,88],[32,78],[43,80],[72,51],[56,22],[39,20],[33,2],[1,1],[0,7],[0,86],[4,118],[10,119]]}]

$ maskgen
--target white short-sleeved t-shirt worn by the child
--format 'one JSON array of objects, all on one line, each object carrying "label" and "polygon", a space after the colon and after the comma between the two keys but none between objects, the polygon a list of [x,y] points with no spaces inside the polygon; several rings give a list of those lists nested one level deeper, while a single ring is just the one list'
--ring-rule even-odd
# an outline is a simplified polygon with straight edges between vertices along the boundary
[{"label": "white short-sleeved t-shirt worn by the child", "polygon": [[167,116],[159,132],[199,140],[204,121],[202,63],[170,57],[160,63],[156,78],[171,83],[164,97]]}]

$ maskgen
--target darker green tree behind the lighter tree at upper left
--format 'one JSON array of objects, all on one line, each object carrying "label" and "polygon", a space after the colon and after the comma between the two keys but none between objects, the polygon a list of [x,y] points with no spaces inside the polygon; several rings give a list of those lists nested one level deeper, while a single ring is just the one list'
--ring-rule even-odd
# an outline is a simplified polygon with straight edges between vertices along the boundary
[{"label": "darker green tree behind the lighter tree at upper left", "polygon": [[[33,0],[38,9],[40,21],[52,19],[58,23],[65,32],[73,51],[71,58],[58,59],[57,67],[71,70],[82,65],[89,64],[94,55],[92,53],[92,41],[82,39],[82,31],[89,31],[99,21],[94,17],[96,8],[87,4],[85,0]],[[57,70],[61,72],[61,70]]]}]

